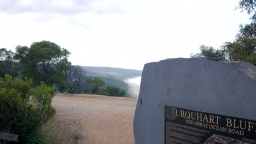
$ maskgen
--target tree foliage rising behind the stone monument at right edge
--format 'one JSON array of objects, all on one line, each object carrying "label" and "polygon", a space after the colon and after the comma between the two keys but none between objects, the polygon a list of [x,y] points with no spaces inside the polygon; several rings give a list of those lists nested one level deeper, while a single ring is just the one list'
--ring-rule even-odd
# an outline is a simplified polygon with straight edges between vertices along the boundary
[{"label": "tree foliage rising behind the stone monument at right edge", "polygon": [[[211,56],[216,61],[245,61],[256,65],[256,1],[242,0],[238,8],[246,10],[249,15],[252,14],[252,22],[246,25],[240,25],[240,30],[236,34],[233,42],[225,42],[221,50],[201,49],[200,53],[191,55],[191,57]],[[203,54],[204,53],[204,54]],[[220,57],[220,58],[218,58]]]}]

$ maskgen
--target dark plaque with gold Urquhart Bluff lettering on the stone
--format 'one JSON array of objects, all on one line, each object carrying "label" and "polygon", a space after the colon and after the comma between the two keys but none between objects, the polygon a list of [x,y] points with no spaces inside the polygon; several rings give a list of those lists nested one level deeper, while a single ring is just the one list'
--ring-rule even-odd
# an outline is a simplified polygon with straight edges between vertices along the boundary
[{"label": "dark plaque with gold Urquhart Bluff lettering on the stone", "polygon": [[165,106],[165,144],[256,143],[256,121]]}]

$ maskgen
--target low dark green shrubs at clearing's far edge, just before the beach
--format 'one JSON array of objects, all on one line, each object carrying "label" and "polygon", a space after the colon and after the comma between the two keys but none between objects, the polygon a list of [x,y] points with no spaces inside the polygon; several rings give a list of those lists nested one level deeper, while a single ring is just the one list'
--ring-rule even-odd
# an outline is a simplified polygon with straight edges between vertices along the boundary
[{"label": "low dark green shrubs at clearing's far edge, just before the beach", "polygon": [[114,96],[114,97],[125,97],[126,91],[124,89],[120,89],[119,87],[115,86],[107,86],[107,88],[102,88],[101,93],[102,95],[107,96]]}]

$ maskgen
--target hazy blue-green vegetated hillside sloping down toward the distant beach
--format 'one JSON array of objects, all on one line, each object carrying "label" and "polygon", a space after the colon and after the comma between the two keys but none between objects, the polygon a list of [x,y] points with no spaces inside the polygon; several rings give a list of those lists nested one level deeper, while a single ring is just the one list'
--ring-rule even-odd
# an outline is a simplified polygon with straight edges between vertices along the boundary
[{"label": "hazy blue-green vegetated hillside sloping down toward the distant beach", "polygon": [[86,76],[100,77],[107,86],[113,85],[126,90],[128,89],[128,86],[124,80],[142,75],[142,70],[135,69],[87,66],[81,67],[86,70]]}]

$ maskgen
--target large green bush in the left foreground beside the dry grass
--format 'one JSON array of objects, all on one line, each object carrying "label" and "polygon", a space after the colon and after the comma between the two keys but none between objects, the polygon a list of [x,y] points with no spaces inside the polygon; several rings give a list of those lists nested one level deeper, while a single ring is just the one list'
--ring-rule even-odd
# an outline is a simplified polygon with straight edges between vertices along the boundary
[{"label": "large green bush in the left foreground beside the dry grass", "polygon": [[0,131],[20,135],[20,143],[50,143],[40,128],[55,115],[54,88],[44,82],[33,88],[32,83],[10,75],[0,79]]}]

